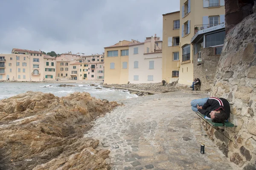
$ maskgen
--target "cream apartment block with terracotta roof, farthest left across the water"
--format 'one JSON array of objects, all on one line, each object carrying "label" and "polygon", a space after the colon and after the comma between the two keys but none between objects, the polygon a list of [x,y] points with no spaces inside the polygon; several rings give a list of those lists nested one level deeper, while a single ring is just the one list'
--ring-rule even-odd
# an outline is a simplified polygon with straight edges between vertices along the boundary
[{"label": "cream apartment block with terracotta roof, farthest left across the water", "polygon": [[39,81],[44,77],[44,54],[13,48],[12,54],[0,54],[0,79]]}]

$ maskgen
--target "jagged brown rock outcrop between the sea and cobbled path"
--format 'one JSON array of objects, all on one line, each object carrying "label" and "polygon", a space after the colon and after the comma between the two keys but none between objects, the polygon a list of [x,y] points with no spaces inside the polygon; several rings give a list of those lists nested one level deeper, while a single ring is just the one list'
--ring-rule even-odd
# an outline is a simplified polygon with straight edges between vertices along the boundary
[{"label": "jagged brown rock outcrop between the sea and cobbled path", "polygon": [[73,93],[28,91],[0,101],[0,169],[106,170],[109,150],[83,134],[97,116],[118,104]]}]

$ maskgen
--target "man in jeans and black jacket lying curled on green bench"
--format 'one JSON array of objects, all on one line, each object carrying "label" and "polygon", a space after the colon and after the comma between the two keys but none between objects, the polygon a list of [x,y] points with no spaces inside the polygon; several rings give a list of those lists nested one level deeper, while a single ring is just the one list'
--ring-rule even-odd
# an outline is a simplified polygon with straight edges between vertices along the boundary
[{"label": "man in jeans and black jacket lying curled on green bench", "polygon": [[195,99],[191,102],[192,111],[199,111],[201,114],[212,119],[215,123],[224,123],[230,116],[230,104],[226,99],[210,97]]}]

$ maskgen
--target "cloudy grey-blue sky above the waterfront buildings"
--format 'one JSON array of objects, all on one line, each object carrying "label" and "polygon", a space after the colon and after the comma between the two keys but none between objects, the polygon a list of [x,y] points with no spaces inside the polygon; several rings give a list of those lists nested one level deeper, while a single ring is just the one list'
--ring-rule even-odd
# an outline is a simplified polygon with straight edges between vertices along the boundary
[{"label": "cloudy grey-blue sky above the waterfront buildings", "polygon": [[179,0],[0,0],[0,54],[12,48],[102,54],[120,40],[161,37]]}]

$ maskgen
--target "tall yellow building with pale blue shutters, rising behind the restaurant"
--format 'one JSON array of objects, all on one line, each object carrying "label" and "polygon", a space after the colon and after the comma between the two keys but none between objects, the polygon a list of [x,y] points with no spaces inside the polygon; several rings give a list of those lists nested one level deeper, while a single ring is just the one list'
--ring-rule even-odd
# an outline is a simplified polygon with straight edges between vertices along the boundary
[{"label": "tall yellow building with pale blue shutters, rising behind the restaurant", "polygon": [[180,84],[190,85],[195,78],[192,37],[198,30],[224,23],[224,5],[224,0],[180,0]]}]

